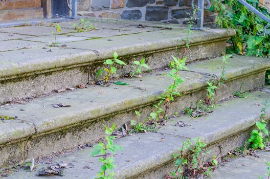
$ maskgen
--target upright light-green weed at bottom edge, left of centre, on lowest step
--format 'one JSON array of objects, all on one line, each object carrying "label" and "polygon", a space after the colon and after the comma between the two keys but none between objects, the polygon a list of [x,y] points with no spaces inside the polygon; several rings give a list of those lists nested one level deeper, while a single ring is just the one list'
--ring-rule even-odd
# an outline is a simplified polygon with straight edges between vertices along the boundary
[{"label": "upright light-green weed at bottom edge, left of centre, on lowest step", "polygon": [[[99,144],[94,145],[94,151],[92,152],[92,156],[95,156],[97,154],[102,155],[99,158],[99,162],[101,162],[103,165],[101,166],[101,171],[97,173],[96,179],[113,179],[115,173],[113,172],[113,169],[116,167],[114,164],[114,156],[111,154],[116,153],[116,151],[122,150],[122,147],[119,145],[114,145],[113,140],[116,138],[114,136],[111,136],[113,131],[115,129],[115,124],[108,128],[105,126],[105,142],[99,142]],[[111,152],[111,154],[109,153]]]}]

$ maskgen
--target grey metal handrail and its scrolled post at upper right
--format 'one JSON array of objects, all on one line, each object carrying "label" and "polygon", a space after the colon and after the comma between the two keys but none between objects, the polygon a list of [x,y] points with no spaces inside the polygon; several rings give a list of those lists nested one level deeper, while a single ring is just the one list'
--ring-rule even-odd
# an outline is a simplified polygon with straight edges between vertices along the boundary
[{"label": "grey metal handrail and its scrolled post at upper right", "polygon": [[[207,6],[205,6],[205,1],[207,2]],[[262,35],[262,34],[270,34],[270,18],[268,18],[266,15],[258,11],[255,7],[250,5],[249,3],[246,3],[245,0],[238,0],[239,3],[241,3],[243,6],[245,6],[247,9],[251,10],[255,14],[257,14],[259,17],[261,17],[263,20],[267,21],[269,23],[263,28],[262,33],[257,33],[257,35]],[[191,6],[194,9],[194,0],[191,2]],[[197,27],[193,28],[194,30],[205,30],[204,28],[204,9],[209,9],[211,7],[210,1],[209,0],[198,0],[198,16],[197,16]]]}]

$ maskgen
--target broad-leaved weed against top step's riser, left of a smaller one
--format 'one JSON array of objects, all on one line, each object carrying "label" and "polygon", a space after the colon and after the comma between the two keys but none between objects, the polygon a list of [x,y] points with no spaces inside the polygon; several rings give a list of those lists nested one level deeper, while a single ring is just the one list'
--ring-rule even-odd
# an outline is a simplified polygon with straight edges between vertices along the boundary
[{"label": "broad-leaved weed against top step's riser, left of a smaller one", "polygon": [[107,59],[104,61],[103,64],[107,64],[109,67],[104,68],[104,69],[99,69],[97,72],[97,77],[100,77],[105,71],[106,76],[103,79],[103,80],[105,80],[105,83],[107,83],[110,80],[111,75],[116,74],[116,72],[117,72],[116,64],[126,65],[125,62],[118,59],[118,54],[116,52],[114,53],[114,59]]}]

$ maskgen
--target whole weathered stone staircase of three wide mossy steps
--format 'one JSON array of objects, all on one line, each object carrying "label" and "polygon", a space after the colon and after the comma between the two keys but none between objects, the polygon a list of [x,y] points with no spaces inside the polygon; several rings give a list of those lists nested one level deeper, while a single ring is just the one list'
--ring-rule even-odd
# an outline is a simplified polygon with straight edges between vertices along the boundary
[{"label": "whole weathered stone staircase of three wide mossy steps", "polygon": [[[142,119],[147,117],[153,110],[152,104],[172,83],[162,74],[169,73],[165,66],[171,55],[179,57],[183,53],[185,27],[96,19],[91,19],[91,23],[97,30],[84,33],[74,31],[74,22],[60,23],[59,48],[48,47],[47,40],[54,36],[50,35],[52,27],[47,24],[0,29],[0,33],[16,36],[2,40],[6,46],[0,47],[0,101],[3,103],[0,115],[16,116],[14,120],[0,122],[1,166],[13,166],[32,158],[41,160],[66,149],[92,145],[104,137],[103,125],[129,124],[137,119],[135,110],[140,111]],[[139,28],[142,26],[144,28]],[[223,62],[219,55],[234,33],[233,30],[211,29],[191,34],[192,43],[187,52],[189,71],[179,73],[185,79],[178,88],[182,96],[170,104],[169,116],[205,99],[207,82],[221,78]],[[11,44],[16,47],[12,49]],[[128,83],[127,86],[94,85],[96,71],[115,51],[127,64],[146,57],[152,72],[144,73],[141,78],[117,79]],[[216,96],[222,100],[240,89],[252,91],[262,87],[269,68],[268,59],[234,55],[226,68],[227,80]],[[125,66],[116,77],[129,72],[130,68]],[[89,83],[87,88],[52,92],[85,83]],[[198,120],[173,118],[156,133],[139,133],[116,140],[124,148],[115,156],[116,178],[164,178],[173,168],[172,154],[188,138],[201,137],[214,154],[220,152],[221,146],[221,155],[226,155],[244,143],[259,120],[261,106],[258,104],[267,98],[269,89],[261,88],[247,99],[221,103],[212,114]],[[70,107],[55,107],[59,103]],[[191,126],[176,127],[177,121]],[[163,137],[165,140],[161,141]],[[55,159],[76,161],[72,162],[74,168],[66,170],[65,178],[95,177],[100,164],[97,158],[91,158],[92,150],[85,148]],[[93,160],[93,164],[89,164]],[[40,164],[38,168],[43,166]],[[91,170],[82,169],[84,166]],[[36,175],[20,171],[10,177]]]}]

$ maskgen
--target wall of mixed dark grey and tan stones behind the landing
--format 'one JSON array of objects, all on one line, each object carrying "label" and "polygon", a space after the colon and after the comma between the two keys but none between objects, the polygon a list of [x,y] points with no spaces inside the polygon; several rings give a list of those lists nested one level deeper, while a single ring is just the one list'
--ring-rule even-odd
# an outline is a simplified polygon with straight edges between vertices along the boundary
[{"label": "wall of mixed dark grey and tan stones behind the landing", "polygon": [[183,23],[192,13],[191,0],[79,0],[86,16]]}]

